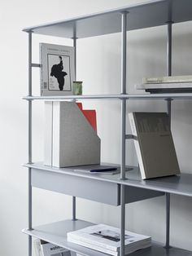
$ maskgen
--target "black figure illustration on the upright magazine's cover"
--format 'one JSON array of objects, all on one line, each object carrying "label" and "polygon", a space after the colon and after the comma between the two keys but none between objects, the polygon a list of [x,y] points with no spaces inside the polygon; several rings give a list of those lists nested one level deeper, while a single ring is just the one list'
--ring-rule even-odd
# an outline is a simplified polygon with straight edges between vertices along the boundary
[{"label": "black figure illustration on the upright magazine's cover", "polygon": [[64,77],[68,75],[68,73],[63,71],[62,56],[59,56],[59,61],[59,64],[54,64],[52,66],[50,76],[57,79],[57,82],[59,83],[59,90],[63,90]]}]

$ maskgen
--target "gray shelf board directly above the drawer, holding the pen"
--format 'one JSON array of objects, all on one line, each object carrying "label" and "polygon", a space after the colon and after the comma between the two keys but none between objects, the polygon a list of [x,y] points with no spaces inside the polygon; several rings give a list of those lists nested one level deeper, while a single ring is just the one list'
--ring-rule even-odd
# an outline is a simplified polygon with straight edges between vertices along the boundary
[{"label": "gray shelf board directly above the drawer, holding the pen", "polygon": [[[52,171],[59,174],[75,175],[85,179],[97,179],[100,181],[124,184],[135,188],[151,189],[154,191],[168,192],[181,196],[192,196],[192,174],[181,173],[180,175],[173,175],[164,178],[142,180],[137,167],[133,167],[133,170],[126,172],[127,179],[121,180],[120,174],[81,174],[74,171],[74,168],[72,167],[57,168],[44,166],[42,163],[25,164],[24,166],[37,170],[45,170],[45,175],[46,171]],[[77,167],[75,167],[75,169],[77,169]]]}]

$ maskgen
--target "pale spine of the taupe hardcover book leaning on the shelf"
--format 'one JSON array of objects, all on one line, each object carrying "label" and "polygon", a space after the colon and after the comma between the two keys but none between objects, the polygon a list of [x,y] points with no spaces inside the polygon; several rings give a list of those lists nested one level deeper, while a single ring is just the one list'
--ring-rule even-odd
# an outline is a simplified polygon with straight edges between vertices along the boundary
[{"label": "pale spine of the taupe hardcover book leaning on the shelf", "polygon": [[137,133],[137,126],[136,126],[135,119],[134,119],[134,113],[129,113],[129,121],[130,121],[132,134],[137,137],[137,139],[133,139],[133,140],[134,140],[135,150],[136,150],[136,153],[137,153],[137,160],[138,160],[140,172],[141,172],[141,175],[142,175],[142,179],[146,179],[144,164],[143,164],[143,161],[142,161],[142,152],[141,152],[141,147],[140,147],[140,144],[139,144],[139,136],[138,136],[138,133]]}]

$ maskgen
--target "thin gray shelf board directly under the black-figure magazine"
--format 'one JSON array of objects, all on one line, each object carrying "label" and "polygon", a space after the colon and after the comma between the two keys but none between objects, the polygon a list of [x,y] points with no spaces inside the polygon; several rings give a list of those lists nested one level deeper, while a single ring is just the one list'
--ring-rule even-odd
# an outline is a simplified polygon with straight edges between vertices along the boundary
[{"label": "thin gray shelf board directly under the black-figure magazine", "polygon": [[66,95],[66,96],[26,96],[26,100],[62,101],[72,99],[192,99],[192,93],[174,94],[120,94],[120,95]]}]

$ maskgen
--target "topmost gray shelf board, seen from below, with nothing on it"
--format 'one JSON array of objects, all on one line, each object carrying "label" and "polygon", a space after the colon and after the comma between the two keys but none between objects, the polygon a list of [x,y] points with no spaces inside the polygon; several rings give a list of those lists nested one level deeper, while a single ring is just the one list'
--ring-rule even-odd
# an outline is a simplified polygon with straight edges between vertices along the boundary
[{"label": "topmost gray shelf board, seen from below, with nothing on it", "polygon": [[89,38],[121,31],[120,12],[128,11],[127,30],[144,29],[192,20],[191,0],[160,0],[137,3],[92,15],[83,15],[73,19],[41,24],[24,29],[62,38]]}]

